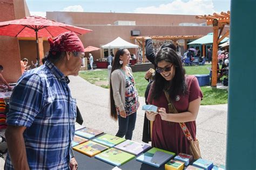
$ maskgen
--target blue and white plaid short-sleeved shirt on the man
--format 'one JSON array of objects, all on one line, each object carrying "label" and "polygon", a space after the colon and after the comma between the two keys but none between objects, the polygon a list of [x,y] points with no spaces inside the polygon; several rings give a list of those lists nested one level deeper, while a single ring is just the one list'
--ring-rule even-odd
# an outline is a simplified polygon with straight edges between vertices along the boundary
[{"label": "blue and white plaid short-sleeved shirt on the man", "polygon": [[[69,169],[75,134],[76,101],[69,80],[50,61],[26,72],[10,99],[7,123],[25,126],[30,169]],[[14,169],[7,155],[5,169]]]}]

